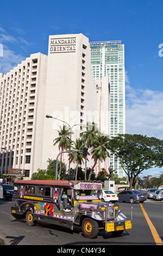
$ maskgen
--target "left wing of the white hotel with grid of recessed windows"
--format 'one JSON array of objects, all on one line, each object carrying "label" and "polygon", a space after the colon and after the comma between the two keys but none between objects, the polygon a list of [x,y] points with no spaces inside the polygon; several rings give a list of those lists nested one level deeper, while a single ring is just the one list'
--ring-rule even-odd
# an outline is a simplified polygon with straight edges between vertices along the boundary
[{"label": "left wing of the white hotel with grid of recessed windows", "polygon": [[0,74],[0,171],[29,176],[41,164],[47,56],[32,54],[7,74]]}]

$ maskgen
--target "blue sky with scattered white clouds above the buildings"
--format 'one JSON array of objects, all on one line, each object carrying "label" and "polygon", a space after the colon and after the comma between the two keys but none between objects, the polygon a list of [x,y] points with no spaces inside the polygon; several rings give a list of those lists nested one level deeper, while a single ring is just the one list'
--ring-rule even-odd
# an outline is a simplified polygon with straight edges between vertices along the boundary
[{"label": "blue sky with scattered white clouds above the buildings", "polygon": [[47,54],[49,35],[122,40],[126,132],[163,139],[162,0],[0,0],[0,6],[0,72],[32,53]]}]

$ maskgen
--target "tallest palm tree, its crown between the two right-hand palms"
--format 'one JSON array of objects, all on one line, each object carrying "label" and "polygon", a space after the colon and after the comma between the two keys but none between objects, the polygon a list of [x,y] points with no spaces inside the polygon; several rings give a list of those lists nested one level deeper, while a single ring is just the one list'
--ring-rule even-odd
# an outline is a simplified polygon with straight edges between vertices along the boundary
[{"label": "tallest palm tree, its crown between the two right-hand palms", "polygon": [[[98,129],[95,123],[91,124],[91,129],[89,123],[87,123],[86,131],[80,133],[80,137],[82,138],[83,144],[86,145],[87,149],[90,149],[93,145],[93,141],[95,141],[96,136],[98,134]],[[86,161],[85,161],[85,180],[86,180]]]}]

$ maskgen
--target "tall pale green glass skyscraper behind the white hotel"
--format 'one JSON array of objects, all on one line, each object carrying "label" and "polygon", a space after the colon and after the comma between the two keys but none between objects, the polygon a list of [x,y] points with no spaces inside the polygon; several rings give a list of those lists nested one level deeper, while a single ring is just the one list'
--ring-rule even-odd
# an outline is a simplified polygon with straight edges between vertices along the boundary
[{"label": "tall pale green glass skyscraper behind the white hotel", "polygon": [[[91,65],[96,80],[109,77],[109,131],[110,137],[125,133],[125,68],[124,45],[122,41],[90,42]],[[106,106],[107,107],[107,106]],[[124,171],[118,159],[110,154],[110,167],[122,178]]]}]

